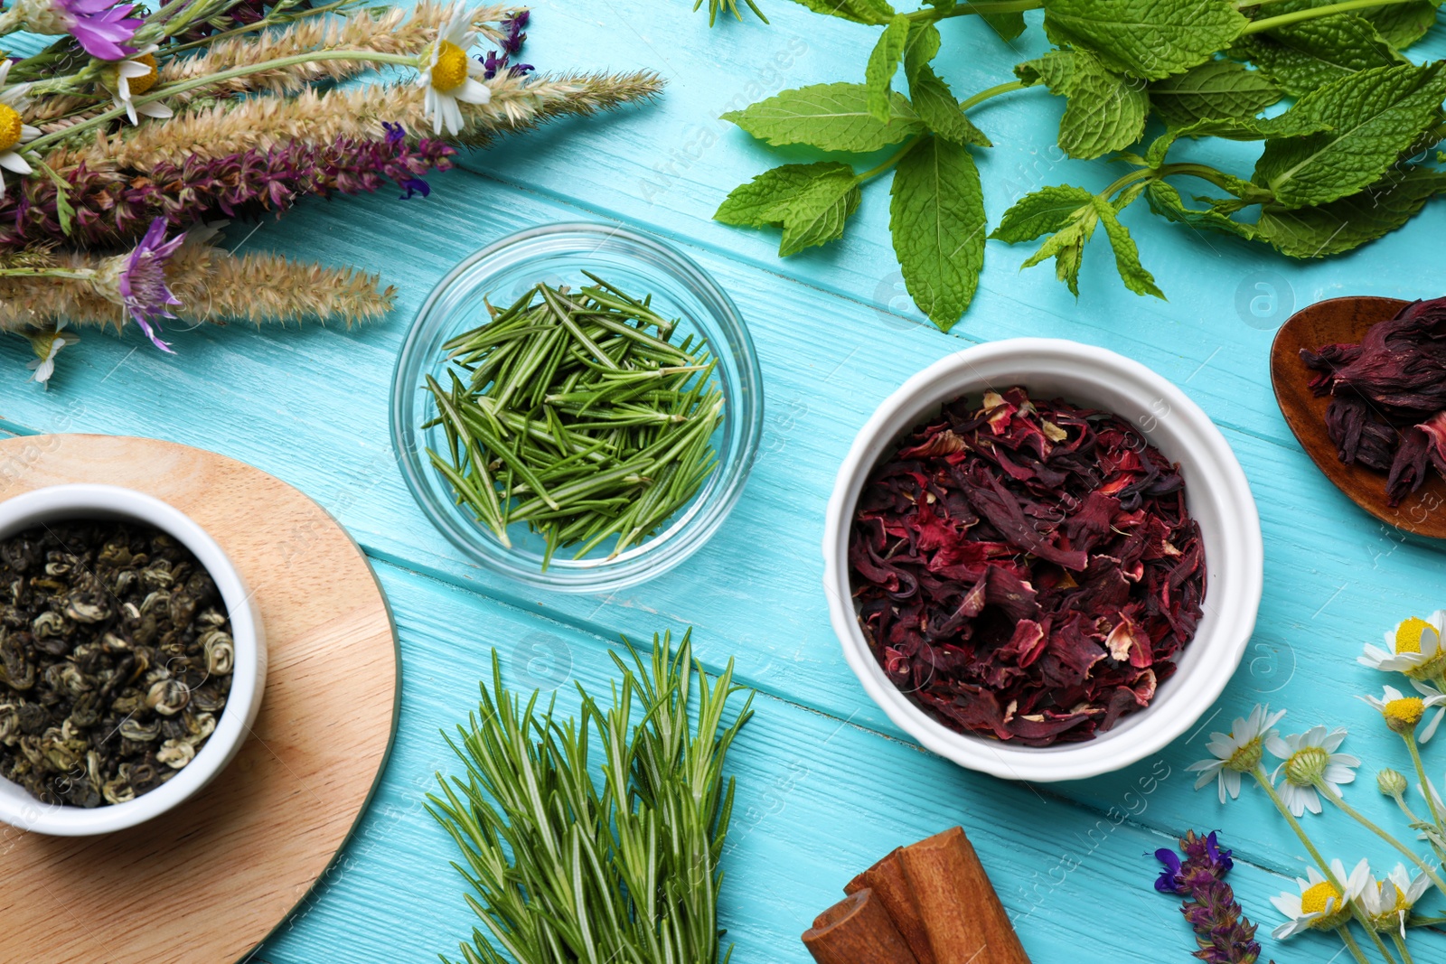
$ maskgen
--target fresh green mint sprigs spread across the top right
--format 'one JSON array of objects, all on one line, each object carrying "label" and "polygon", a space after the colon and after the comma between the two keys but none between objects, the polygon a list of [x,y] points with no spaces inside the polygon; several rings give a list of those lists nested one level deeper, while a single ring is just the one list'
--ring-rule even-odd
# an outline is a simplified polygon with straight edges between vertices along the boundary
[{"label": "fresh green mint sprigs spread across the top right", "polygon": [[[1446,69],[1401,52],[1434,22],[1433,0],[934,0],[911,12],[888,0],[798,1],[882,27],[863,82],[784,91],[724,119],[775,146],[860,156],[898,147],[862,172],[837,158],[775,168],[735,189],[716,217],[779,227],[779,254],[795,254],[842,237],[863,185],[891,175],[905,285],[943,330],[973,299],[986,236],[1043,238],[1025,267],[1053,259],[1077,295],[1084,247],[1103,234],[1125,286],[1164,298],[1122,220],[1141,198],[1142,210],[1192,230],[1322,257],[1401,227],[1446,188],[1446,173],[1421,159],[1446,136]],[[979,16],[1012,39],[1028,10],[1043,10],[1056,49],[1017,65],[1014,81],[956,98],[933,65],[937,23]],[[1064,98],[1057,143],[1067,156],[1131,169],[1100,192],[1037,191],[989,233],[973,152],[992,145],[969,114],[1025,88]],[[1259,117],[1281,98],[1296,103]],[[1205,137],[1258,142],[1255,169],[1246,178],[1167,160]],[[1207,194],[1183,194],[1190,181]]]}]

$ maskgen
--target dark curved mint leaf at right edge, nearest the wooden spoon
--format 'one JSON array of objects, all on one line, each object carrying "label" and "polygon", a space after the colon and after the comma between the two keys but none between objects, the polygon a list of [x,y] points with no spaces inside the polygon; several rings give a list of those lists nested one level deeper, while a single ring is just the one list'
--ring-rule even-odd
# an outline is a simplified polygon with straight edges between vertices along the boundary
[{"label": "dark curved mint leaf at right edge, nearest the wooden spoon", "polygon": [[1404,225],[1442,189],[1446,176],[1437,171],[1392,171],[1365,191],[1320,207],[1293,211],[1265,207],[1255,237],[1290,257],[1340,254]]}]

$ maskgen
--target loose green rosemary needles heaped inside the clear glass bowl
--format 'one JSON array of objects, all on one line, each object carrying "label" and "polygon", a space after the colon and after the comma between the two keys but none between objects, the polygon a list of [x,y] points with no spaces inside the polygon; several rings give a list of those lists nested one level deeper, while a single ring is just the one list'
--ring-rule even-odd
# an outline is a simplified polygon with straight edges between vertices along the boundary
[{"label": "loose green rosemary needles heaped inside the clear glass bowl", "polygon": [[716,360],[675,322],[600,277],[577,293],[538,285],[445,344],[448,384],[427,389],[445,452],[427,449],[457,494],[510,546],[526,522],[581,558],[610,556],[658,529],[717,465],[723,393]]}]

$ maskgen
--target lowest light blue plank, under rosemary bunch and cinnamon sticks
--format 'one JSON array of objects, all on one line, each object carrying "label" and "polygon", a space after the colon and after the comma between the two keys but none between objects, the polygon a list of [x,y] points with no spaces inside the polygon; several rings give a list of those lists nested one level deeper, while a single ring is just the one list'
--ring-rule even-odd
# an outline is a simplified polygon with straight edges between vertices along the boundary
[{"label": "lowest light blue plank, under rosemary bunch and cinnamon sticks", "polygon": [[[434,770],[455,772],[438,730],[476,708],[474,681],[490,672],[492,647],[505,673],[558,687],[565,708],[576,705],[571,682],[596,692],[612,678],[602,639],[390,565],[379,574],[406,668],[395,750],[343,861],[262,947],[259,957],[272,964],[309,964],[324,954],[357,964],[455,955],[454,941],[470,934],[474,919],[448,867],[454,844],[421,805]],[[698,630],[700,640],[706,636]],[[528,675],[538,649],[554,659]],[[1194,739],[1193,749],[1202,741]],[[1189,779],[1173,759],[1135,767],[1128,786],[1115,788],[1112,809],[1098,814],[763,698],[730,760],[739,795],[722,906],[736,961],[804,964],[798,934],[856,870],[956,822],[967,828],[1035,964],[1187,960],[1177,902],[1151,889],[1151,853],[1168,838],[1142,825],[1167,788]],[[1232,883],[1272,926],[1267,895],[1288,882],[1242,861]],[[1109,919],[1103,926],[1102,912]],[[1280,964],[1325,960],[1333,951],[1314,938],[1267,945]],[[1432,960],[1446,951],[1446,939],[1424,937],[1419,947],[1419,960]]]}]

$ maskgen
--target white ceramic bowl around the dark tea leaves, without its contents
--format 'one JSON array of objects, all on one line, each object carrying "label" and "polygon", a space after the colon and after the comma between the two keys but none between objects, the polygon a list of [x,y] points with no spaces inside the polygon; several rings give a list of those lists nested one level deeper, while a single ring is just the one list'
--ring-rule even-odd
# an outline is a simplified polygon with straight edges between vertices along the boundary
[{"label": "white ceramic bowl around the dark tea leaves, without its contents", "polygon": [[240,572],[201,526],[159,499],[120,486],[49,486],[0,503],[0,539],[42,522],[65,519],[133,519],[172,535],[211,574],[231,619],[236,666],[231,692],[215,731],[175,776],[124,804],[87,809],[42,804],[14,783],[0,779],[0,821],[20,830],[58,837],[107,834],[159,817],[178,806],[220,773],[250,734],[266,687],[266,640],[260,613]]}]

